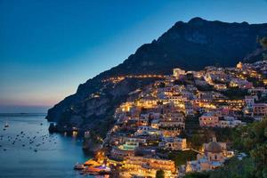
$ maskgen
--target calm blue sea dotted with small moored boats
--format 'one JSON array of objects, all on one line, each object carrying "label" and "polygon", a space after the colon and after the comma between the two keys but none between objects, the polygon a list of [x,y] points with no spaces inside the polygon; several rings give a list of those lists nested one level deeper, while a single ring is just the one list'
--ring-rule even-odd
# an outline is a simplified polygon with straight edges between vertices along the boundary
[{"label": "calm blue sea dotted with small moored boats", "polygon": [[[44,117],[0,114],[0,177],[84,177],[73,170],[77,162],[90,158],[82,141],[49,134]],[[5,123],[9,127],[4,131]]]}]

